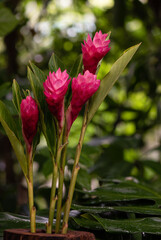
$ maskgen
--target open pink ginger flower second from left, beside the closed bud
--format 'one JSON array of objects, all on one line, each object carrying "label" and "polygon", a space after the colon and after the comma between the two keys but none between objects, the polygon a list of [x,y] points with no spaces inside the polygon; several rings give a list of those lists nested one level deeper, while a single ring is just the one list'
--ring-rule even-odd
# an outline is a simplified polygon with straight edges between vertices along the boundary
[{"label": "open pink ginger flower second from left, beside the closed bud", "polygon": [[68,79],[67,71],[61,72],[60,68],[57,72],[49,72],[46,81],[43,83],[44,94],[50,112],[59,122],[59,128],[63,127],[64,119],[64,96],[67,92],[71,79]]}]

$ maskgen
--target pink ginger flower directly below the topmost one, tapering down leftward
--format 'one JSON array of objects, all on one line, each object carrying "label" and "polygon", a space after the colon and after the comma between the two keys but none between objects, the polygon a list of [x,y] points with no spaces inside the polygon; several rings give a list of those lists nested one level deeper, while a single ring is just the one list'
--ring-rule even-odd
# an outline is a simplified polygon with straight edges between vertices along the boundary
[{"label": "pink ginger flower directly below the topmost one, tapering down leftward", "polygon": [[97,91],[100,85],[100,80],[97,76],[90,73],[88,70],[84,75],[79,74],[77,78],[72,81],[72,100],[66,113],[67,119],[67,133],[77,118],[82,106],[92,95]]}]

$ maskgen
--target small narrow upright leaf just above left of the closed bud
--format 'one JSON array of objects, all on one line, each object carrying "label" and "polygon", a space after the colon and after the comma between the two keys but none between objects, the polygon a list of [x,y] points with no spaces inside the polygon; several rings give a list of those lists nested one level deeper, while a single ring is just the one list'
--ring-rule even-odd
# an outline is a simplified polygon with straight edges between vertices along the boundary
[{"label": "small narrow upright leaf just above left of the closed bud", "polygon": [[20,87],[15,79],[13,80],[13,84],[12,84],[12,94],[13,94],[13,99],[12,99],[13,104],[17,112],[20,113],[20,104],[22,101],[22,97],[21,97]]}]

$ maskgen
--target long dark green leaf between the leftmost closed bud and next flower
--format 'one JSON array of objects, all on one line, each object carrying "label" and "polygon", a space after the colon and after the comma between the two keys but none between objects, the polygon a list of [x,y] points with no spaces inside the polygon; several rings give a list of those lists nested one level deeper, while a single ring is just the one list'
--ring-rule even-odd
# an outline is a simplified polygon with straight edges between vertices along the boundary
[{"label": "long dark green leaf between the leftmost closed bud and next flower", "polygon": [[54,154],[56,146],[56,129],[55,122],[53,121],[52,114],[48,110],[44,95],[43,82],[46,80],[46,76],[33,63],[30,63],[30,66],[33,71],[28,67],[28,79],[30,81],[35,100],[39,106],[42,131],[46,138],[50,152]]}]

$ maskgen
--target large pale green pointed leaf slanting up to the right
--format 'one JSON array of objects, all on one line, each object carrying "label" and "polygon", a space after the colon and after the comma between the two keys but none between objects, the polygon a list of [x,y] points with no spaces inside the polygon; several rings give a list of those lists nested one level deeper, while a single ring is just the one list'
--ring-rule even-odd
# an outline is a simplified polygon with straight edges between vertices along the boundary
[{"label": "large pale green pointed leaf slanting up to the right", "polygon": [[95,112],[111,90],[114,83],[117,81],[140,44],[137,44],[129,49],[127,49],[123,55],[113,64],[111,70],[107,75],[102,79],[100,87],[98,91],[94,94],[94,96],[90,99],[89,111],[88,111],[88,121],[89,123],[94,116]]}]

